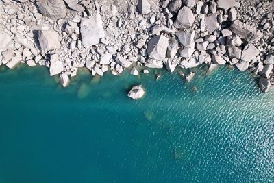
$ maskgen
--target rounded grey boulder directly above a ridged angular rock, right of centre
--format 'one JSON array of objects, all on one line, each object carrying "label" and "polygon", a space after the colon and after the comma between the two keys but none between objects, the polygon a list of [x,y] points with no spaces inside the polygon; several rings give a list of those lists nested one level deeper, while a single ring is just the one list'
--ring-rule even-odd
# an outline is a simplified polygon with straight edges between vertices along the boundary
[{"label": "rounded grey boulder directly above a ridged angular rock, right of centre", "polygon": [[192,13],[192,10],[184,6],[181,10],[179,10],[177,19],[173,24],[177,29],[187,29],[192,26],[195,21],[195,16]]}]

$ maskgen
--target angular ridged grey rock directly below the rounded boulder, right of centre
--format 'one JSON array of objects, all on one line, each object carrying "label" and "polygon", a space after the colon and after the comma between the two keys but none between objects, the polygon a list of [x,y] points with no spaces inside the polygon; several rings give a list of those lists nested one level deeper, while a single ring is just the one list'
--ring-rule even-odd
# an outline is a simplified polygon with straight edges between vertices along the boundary
[{"label": "angular ridged grey rock directly below the rounded boulder, right of centre", "polygon": [[186,30],[186,31],[177,32],[175,35],[177,36],[177,38],[179,39],[179,42],[184,47],[194,47],[194,45],[195,45],[195,42],[194,42],[195,31],[194,30]]}]

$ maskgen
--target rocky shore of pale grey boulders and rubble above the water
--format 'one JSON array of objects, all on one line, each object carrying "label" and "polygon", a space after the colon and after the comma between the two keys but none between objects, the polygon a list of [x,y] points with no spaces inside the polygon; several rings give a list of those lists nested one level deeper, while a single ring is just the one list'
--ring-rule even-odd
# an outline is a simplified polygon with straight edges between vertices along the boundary
[{"label": "rocky shore of pale grey boulders and rubble above the water", "polygon": [[103,76],[229,64],[258,75],[266,92],[273,11],[266,0],[0,0],[0,65],[47,66],[66,87],[82,67]]}]

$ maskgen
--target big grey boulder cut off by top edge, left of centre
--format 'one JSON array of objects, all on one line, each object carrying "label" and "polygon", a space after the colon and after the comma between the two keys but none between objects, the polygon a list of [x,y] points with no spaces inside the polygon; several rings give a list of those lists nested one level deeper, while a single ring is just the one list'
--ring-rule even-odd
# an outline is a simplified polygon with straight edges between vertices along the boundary
[{"label": "big grey boulder cut off by top edge, left of centre", "polygon": [[42,15],[53,20],[66,17],[66,5],[63,0],[40,0],[36,5]]}]

